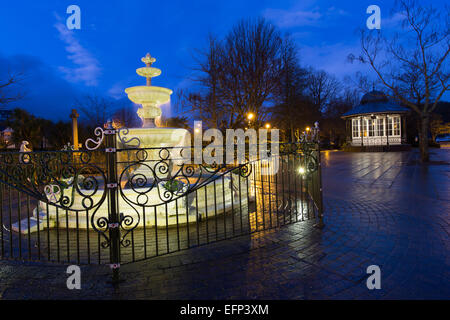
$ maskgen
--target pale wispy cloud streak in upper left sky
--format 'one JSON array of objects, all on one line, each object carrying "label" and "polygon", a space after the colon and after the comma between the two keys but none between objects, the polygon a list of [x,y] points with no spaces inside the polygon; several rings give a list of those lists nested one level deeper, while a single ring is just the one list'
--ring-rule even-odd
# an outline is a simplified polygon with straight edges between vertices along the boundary
[{"label": "pale wispy cloud streak in upper left sky", "polygon": [[61,21],[54,26],[58,30],[59,38],[66,44],[65,49],[69,54],[67,58],[75,65],[72,68],[59,67],[59,70],[64,74],[64,78],[70,82],[82,82],[86,86],[96,86],[101,73],[97,59],[80,44],[74,36],[74,32],[69,30]]}]

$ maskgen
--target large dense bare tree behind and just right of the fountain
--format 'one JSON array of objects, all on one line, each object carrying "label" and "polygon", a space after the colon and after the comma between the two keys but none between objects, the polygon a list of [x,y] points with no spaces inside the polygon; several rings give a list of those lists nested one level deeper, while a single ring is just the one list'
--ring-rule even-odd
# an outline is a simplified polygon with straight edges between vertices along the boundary
[{"label": "large dense bare tree behind and just right of the fountain", "polygon": [[265,103],[274,101],[279,85],[283,40],[264,19],[240,21],[223,40],[209,38],[199,55],[202,91],[190,95],[193,109],[211,125],[235,128],[256,114],[267,115]]}]

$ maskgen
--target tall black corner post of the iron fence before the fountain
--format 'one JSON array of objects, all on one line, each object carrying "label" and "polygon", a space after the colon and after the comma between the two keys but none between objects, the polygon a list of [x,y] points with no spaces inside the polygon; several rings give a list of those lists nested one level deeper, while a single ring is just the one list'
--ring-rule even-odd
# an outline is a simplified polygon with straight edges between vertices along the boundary
[{"label": "tall black corner post of the iron fence before the fountain", "polygon": [[110,239],[110,267],[112,269],[113,284],[119,282],[120,268],[120,214],[117,184],[117,132],[111,121],[108,121],[104,130],[106,139],[106,163],[107,163],[107,189],[108,189],[108,229]]}]

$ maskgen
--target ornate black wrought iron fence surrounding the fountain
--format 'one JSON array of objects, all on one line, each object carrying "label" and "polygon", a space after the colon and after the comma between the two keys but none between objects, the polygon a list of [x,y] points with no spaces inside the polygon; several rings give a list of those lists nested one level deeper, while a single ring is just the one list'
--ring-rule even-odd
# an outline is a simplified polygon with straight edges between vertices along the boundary
[{"label": "ornate black wrought iron fence surrounding the fountain", "polygon": [[110,264],[118,280],[120,264],[307,219],[322,224],[316,141],[206,165],[180,161],[184,148],[119,149],[116,130],[99,130],[91,142],[104,149],[0,153],[2,258]]}]

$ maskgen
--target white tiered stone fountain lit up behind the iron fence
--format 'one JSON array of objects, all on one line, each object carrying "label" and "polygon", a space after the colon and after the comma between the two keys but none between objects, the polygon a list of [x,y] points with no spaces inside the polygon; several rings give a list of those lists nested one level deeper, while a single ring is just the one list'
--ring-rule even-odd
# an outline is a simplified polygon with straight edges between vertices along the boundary
[{"label": "white tiered stone fountain lit up behind the iron fence", "polygon": [[[160,106],[170,101],[172,90],[151,85],[152,78],[161,74],[160,69],[152,67],[155,58],[147,54],[141,60],[146,66],[136,72],[145,77],[147,83],[145,86],[127,88],[125,92],[131,101],[141,105],[138,115],[143,125],[141,128],[121,129],[117,134],[120,149],[117,151],[119,212],[126,221],[122,227],[126,230],[144,224],[166,227],[197,222],[207,218],[208,212],[211,217],[230,211],[233,202],[235,206],[239,203],[240,209],[247,208],[247,201],[251,198],[247,190],[252,186],[247,186],[249,180],[242,177],[241,172],[218,176],[219,173],[214,170],[208,171],[197,165],[190,168],[200,169],[201,173],[186,176],[190,168],[183,164],[185,159],[180,147],[190,145],[189,131],[156,127],[155,119],[161,116]],[[92,149],[87,142],[86,147]],[[83,189],[89,185],[86,183],[88,179],[95,180],[98,186],[95,192]],[[105,230],[105,226],[100,224],[102,219],[107,220],[108,204],[104,200],[105,181],[100,180],[101,173],[89,177],[78,173],[76,177],[64,181],[65,188],[54,184],[46,186],[51,190],[46,192],[50,204],[39,201],[33,212],[36,222],[27,224],[22,220],[21,232],[26,233],[28,229],[30,232],[37,231],[38,225],[44,229],[56,224],[60,228],[94,227]],[[86,198],[89,198],[88,201]],[[65,205],[62,205],[63,199]],[[91,204],[89,208],[86,203]],[[60,208],[59,213],[57,207]],[[143,216],[144,211],[147,212],[146,217]],[[18,227],[15,229],[18,230]]]}]

